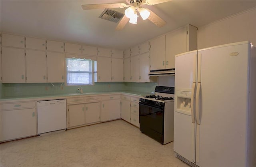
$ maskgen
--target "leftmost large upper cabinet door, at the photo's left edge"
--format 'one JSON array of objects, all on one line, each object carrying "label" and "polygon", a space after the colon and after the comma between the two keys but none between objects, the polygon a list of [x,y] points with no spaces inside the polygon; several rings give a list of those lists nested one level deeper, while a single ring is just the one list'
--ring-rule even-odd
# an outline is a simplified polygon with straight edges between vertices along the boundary
[{"label": "leftmost large upper cabinet door, at the photo's left edge", "polygon": [[24,49],[2,47],[2,82],[25,82],[25,51]]}]

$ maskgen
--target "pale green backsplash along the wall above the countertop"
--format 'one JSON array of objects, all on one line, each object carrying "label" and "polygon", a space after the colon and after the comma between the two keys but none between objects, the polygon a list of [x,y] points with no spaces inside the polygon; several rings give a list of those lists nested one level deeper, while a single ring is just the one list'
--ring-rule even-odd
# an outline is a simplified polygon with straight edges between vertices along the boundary
[{"label": "pale green backsplash along the wall above the countertop", "polygon": [[[157,83],[134,82],[95,82],[94,85],[82,86],[84,93],[131,90],[150,93]],[[80,86],[66,86],[61,83],[1,83],[1,98],[36,95],[61,95],[78,93]]]}]

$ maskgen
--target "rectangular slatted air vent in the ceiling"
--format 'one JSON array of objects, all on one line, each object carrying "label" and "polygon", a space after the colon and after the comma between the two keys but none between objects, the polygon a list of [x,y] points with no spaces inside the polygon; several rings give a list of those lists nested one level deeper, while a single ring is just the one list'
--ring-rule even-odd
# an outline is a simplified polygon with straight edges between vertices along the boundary
[{"label": "rectangular slatted air vent in the ceiling", "polygon": [[105,9],[102,14],[100,14],[99,18],[108,20],[110,22],[119,22],[119,20],[124,16],[124,14],[117,12],[112,9]]}]

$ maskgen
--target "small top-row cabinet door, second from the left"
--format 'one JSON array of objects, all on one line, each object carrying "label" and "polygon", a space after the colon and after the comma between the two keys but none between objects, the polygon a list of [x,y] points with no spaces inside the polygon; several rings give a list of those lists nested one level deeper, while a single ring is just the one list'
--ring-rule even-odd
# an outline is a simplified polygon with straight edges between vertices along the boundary
[{"label": "small top-row cabinet door, second from the left", "polygon": [[45,50],[46,49],[46,40],[40,39],[40,38],[26,37],[26,48],[27,49]]}]

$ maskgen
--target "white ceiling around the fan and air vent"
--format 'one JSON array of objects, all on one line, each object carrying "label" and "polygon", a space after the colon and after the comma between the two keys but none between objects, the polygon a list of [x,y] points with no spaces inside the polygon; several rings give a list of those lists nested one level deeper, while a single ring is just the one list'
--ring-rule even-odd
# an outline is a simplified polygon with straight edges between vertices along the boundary
[{"label": "white ceiling around the fan and air vent", "polygon": [[[82,4],[126,3],[126,0],[1,0],[1,32],[77,42],[106,48],[126,49],[186,24],[202,26],[254,8],[256,0],[173,0],[144,6],[167,24],[158,28],[149,20],[127,23],[116,31],[118,23],[100,19],[104,9],[82,10]],[[114,8],[124,13],[126,8]]]}]

